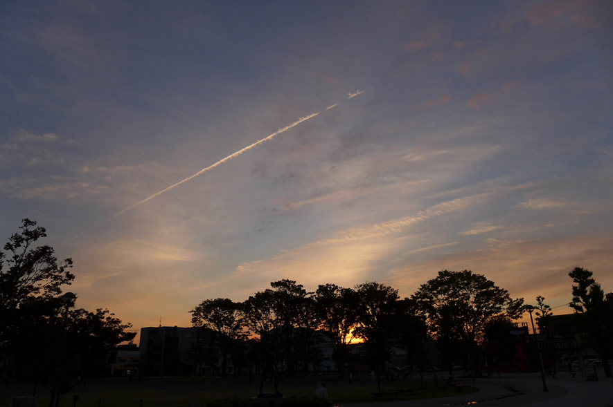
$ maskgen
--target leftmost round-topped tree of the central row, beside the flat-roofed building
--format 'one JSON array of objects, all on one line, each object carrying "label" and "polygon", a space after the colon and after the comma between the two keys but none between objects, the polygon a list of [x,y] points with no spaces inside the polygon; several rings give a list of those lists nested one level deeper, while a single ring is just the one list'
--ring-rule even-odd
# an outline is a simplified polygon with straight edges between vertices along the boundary
[{"label": "leftmost round-topped tree of the central row, beside the flat-roofed building", "polygon": [[233,343],[239,339],[245,339],[248,334],[242,304],[235,303],[231,299],[205,300],[190,313],[193,326],[208,328],[215,332],[222,354],[222,375],[226,375],[228,355]]}]

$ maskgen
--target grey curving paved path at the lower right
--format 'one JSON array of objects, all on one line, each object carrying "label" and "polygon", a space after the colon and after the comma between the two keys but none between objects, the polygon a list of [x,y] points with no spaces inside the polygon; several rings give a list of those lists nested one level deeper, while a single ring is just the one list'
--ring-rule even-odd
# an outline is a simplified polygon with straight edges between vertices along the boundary
[{"label": "grey curving paved path at the lower right", "polygon": [[[465,380],[465,381],[462,381]],[[470,384],[472,379],[459,379]],[[561,373],[556,379],[547,378],[549,392],[543,391],[539,374],[524,373],[501,375],[495,379],[477,379],[481,391],[470,395],[440,397],[413,401],[387,401],[385,403],[344,404],[343,407],[416,407],[416,406],[530,406],[530,407],[613,407],[613,380],[601,377],[600,381],[585,381]],[[513,392],[507,387],[517,390]],[[474,403],[476,401],[476,403]]]}]

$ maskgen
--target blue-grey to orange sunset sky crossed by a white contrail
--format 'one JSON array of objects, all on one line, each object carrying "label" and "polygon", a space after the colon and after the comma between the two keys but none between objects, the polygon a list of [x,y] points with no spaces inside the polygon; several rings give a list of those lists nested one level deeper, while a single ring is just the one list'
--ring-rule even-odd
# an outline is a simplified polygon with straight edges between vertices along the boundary
[{"label": "blue-grey to orange sunset sky crossed by a white contrail", "polygon": [[565,314],[613,291],[612,112],[610,1],[3,1],[0,232],[136,330],[441,269]]}]

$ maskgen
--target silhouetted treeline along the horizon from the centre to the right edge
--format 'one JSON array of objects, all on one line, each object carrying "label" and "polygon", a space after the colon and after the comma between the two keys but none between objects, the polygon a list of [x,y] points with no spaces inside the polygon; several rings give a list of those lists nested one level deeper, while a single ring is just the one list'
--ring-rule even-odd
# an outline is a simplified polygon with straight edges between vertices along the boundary
[{"label": "silhouetted treeline along the horizon from the centre to the right edge", "polygon": [[[583,343],[606,360],[613,350],[612,304],[589,270],[576,267],[569,276],[575,283],[569,306],[580,314],[576,321],[585,330]],[[517,329],[513,321],[528,308],[536,311],[537,320],[552,314],[544,297],[537,297],[536,307],[525,305],[524,299],[511,298],[507,290],[470,270],[438,272],[405,299],[395,288],[376,282],[353,288],[328,283],[314,292],[287,279],[270,285],[243,302],[208,299],[190,311],[193,326],[213,332],[224,374],[233,343],[254,336],[274,344],[278,363],[290,374],[300,365],[308,370],[321,360],[317,330],[332,340],[340,371],[353,339],[364,341],[373,368],[389,360],[393,343],[407,352],[409,365],[424,363],[425,343],[436,340],[441,360],[451,368],[454,359],[466,354],[479,360],[490,343]],[[478,363],[474,368],[479,374]],[[605,371],[610,375],[607,363]]]}]

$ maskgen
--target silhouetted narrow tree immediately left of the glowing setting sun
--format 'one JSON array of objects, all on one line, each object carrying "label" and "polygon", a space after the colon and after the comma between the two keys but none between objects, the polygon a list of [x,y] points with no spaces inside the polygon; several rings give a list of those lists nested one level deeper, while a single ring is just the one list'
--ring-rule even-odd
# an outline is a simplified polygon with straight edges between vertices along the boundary
[{"label": "silhouetted narrow tree immediately left of the glowing setting sun", "polygon": [[335,284],[319,285],[314,296],[321,328],[335,346],[335,359],[340,372],[344,371],[348,344],[354,338],[359,301],[357,293]]}]

